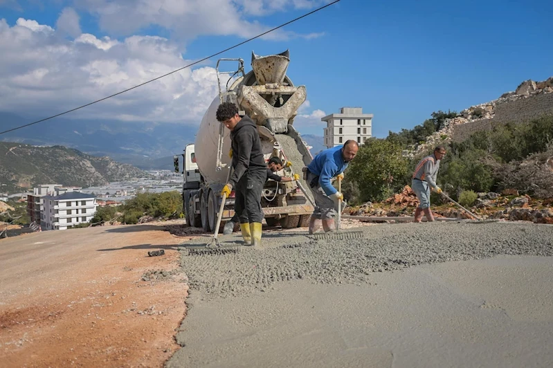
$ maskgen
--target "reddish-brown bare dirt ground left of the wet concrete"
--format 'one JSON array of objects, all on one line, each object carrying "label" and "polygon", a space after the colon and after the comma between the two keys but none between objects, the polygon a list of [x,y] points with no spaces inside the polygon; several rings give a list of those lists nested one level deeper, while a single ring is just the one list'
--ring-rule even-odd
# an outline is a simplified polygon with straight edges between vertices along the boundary
[{"label": "reddish-brown bare dirt ground left of the wet concrete", "polygon": [[[163,228],[0,239],[2,366],[162,367],[186,312],[176,244],[191,238]],[[158,249],[165,255],[147,255]]]}]

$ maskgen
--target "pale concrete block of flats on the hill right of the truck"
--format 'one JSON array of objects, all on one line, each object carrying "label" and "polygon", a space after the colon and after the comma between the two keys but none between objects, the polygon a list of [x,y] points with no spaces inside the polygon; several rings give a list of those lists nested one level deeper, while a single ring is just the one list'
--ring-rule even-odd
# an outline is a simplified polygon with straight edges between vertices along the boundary
[{"label": "pale concrete block of flats on the hill right of the truck", "polygon": [[355,140],[360,145],[372,137],[372,113],[363,113],[362,107],[342,107],[340,113],[321,118],[327,123],[325,146],[343,145],[346,140]]}]

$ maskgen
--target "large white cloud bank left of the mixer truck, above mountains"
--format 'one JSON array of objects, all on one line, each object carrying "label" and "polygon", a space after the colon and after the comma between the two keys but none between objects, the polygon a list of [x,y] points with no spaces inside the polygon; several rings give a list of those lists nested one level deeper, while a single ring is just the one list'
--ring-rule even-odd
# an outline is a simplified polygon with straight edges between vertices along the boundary
[{"label": "large white cloud bank left of the mixer truck, above mountains", "polygon": [[[71,41],[27,19],[15,26],[0,20],[0,49],[0,111],[33,111],[44,117],[190,64],[163,37],[132,36],[118,42],[83,34]],[[71,116],[198,123],[217,93],[215,68],[185,68]]]}]

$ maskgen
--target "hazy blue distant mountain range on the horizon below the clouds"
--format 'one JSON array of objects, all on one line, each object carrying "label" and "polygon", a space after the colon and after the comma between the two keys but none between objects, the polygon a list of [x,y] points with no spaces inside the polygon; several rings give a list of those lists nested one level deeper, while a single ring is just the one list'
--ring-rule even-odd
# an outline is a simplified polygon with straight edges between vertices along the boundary
[{"label": "hazy blue distant mountain range on the horizon below the clouds", "polygon": [[[28,121],[12,113],[0,112],[0,130]],[[194,142],[196,132],[197,127],[190,125],[55,118],[10,131],[0,136],[0,141],[60,145],[90,156],[108,156],[140,169],[173,169],[172,156],[182,154],[185,145]],[[306,134],[302,138],[313,147],[313,155],[325,149],[322,136]]]}]

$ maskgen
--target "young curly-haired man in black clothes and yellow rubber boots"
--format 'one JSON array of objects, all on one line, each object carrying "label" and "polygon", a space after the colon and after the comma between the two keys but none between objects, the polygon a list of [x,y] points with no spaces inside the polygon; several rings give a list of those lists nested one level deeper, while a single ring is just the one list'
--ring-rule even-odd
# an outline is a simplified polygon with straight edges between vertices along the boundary
[{"label": "young curly-haired man in black clothes and yellow rubber boots", "polygon": [[238,107],[232,102],[223,102],[217,108],[217,120],[230,130],[233,169],[221,195],[230,195],[235,188],[235,212],[240,221],[244,245],[261,244],[261,191],[267,172],[257,125],[248,116],[240,117]]}]

